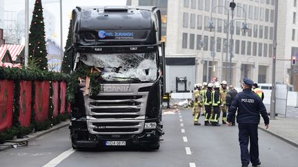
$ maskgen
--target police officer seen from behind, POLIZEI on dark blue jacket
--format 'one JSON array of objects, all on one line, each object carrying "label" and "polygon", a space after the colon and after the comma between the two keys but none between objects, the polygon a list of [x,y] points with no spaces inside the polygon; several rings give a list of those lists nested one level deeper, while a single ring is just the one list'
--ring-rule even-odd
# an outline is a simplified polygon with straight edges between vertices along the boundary
[{"label": "police officer seen from behind, POLIZEI on dark blue jacket", "polygon": [[[237,113],[237,123],[239,129],[239,145],[241,150],[241,164],[248,166],[259,166],[259,145],[258,145],[258,124],[260,113],[265,122],[265,128],[269,127],[269,118],[266,107],[261,98],[252,92],[254,82],[249,78],[244,78],[242,83],[244,91],[238,93],[232,101],[228,112],[228,126],[232,125],[232,117]],[[248,142],[250,141],[250,151],[248,152]]]}]

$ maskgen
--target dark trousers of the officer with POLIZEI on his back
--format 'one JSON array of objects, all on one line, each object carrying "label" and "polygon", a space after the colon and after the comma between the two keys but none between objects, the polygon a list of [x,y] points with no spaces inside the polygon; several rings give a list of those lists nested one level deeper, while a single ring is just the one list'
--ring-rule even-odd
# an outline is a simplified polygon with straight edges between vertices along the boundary
[{"label": "dark trousers of the officer with POLIZEI on his back", "polygon": [[[255,165],[259,162],[257,127],[258,124],[238,124],[242,165],[248,165],[250,162]],[[250,142],[249,152],[248,142]]]}]

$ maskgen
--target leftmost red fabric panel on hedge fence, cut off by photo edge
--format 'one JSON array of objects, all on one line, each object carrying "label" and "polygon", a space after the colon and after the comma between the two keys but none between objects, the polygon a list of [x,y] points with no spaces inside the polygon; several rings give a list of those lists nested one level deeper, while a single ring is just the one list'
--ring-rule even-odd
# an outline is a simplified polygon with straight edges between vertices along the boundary
[{"label": "leftmost red fabric panel on hedge fence, cut off by photo edge", "polygon": [[0,132],[12,126],[14,81],[0,80]]}]

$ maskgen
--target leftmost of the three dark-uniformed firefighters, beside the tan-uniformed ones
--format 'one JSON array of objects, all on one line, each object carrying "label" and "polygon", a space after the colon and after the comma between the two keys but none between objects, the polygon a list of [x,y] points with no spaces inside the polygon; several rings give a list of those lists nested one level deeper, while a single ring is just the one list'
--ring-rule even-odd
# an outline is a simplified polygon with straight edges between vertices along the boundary
[{"label": "leftmost of the three dark-uniformed firefighters, beside the tan-uniformed ones", "polygon": [[207,85],[207,90],[206,90],[206,93],[204,93],[204,98],[203,98],[204,106],[206,109],[205,126],[210,126],[209,119],[210,119],[211,107],[212,107],[212,87],[213,87],[212,83],[209,83]]}]

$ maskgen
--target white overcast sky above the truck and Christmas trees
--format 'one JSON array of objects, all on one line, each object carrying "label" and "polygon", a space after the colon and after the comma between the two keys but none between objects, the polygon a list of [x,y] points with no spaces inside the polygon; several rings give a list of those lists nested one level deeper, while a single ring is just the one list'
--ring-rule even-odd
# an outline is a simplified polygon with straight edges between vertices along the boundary
[{"label": "white overcast sky above the truck and Christmas trees", "polygon": [[[3,1],[3,0],[0,0]],[[43,8],[54,14],[56,17],[57,41],[60,43],[60,1],[41,0]],[[30,0],[30,5],[34,5],[34,0]],[[76,6],[92,5],[126,5],[126,0],[62,0],[62,21],[63,21],[63,47],[68,36],[70,14]],[[31,8],[31,7],[30,7]],[[21,11],[25,9],[25,0],[4,0],[4,10]],[[32,11],[29,12],[32,14]],[[30,25],[31,21],[29,22]],[[45,21],[46,23],[46,21]]]}]

